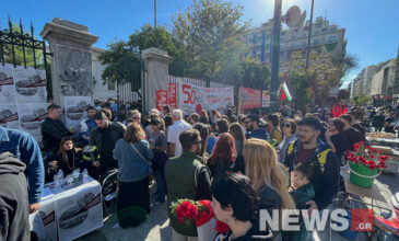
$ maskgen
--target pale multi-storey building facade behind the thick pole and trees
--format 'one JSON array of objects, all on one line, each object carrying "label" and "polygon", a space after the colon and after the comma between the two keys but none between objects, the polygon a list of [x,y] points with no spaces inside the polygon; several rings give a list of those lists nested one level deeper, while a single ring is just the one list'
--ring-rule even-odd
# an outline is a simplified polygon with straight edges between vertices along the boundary
[{"label": "pale multi-storey building facade behind the thick pole and trees", "polygon": [[[247,51],[246,57],[258,60],[259,62],[271,65],[271,41],[272,41],[272,20],[263,23],[259,27],[248,31],[244,38]],[[287,68],[292,60],[292,55],[300,51],[306,58],[307,43],[309,33],[309,21],[300,27],[282,30],[280,33],[280,70]],[[316,18],[312,25],[310,48],[312,51],[319,51],[322,47],[327,51],[345,54],[347,41],[344,38],[345,28],[336,24],[330,24],[322,16]]]}]

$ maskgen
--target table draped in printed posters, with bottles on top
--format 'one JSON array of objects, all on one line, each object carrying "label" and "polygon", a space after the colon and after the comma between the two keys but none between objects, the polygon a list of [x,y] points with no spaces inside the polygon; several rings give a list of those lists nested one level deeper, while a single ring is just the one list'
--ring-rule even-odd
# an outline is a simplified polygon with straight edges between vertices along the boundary
[{"label": "table draped in printed posters, with bottles on top", "polygon": [[103,227],[102,187],[87,177],[56,188],[45,184],[39,211],[30,216],[32,230],[39,240],[73,240]]}]

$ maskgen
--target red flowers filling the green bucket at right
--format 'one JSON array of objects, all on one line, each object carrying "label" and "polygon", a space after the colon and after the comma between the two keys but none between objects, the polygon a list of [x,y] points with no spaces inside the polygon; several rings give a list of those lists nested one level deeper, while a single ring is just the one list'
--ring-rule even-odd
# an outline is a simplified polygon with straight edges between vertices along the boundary
[{"label": "red flowers filling the green bucket at right", "polygon": [[388,157],[380,154],[376,148],[366,146],[364,141],[361,141],[353,145],[353,151],[347,152],[347,159],[350,162],[374,170],[386,169],[385,161]]}]

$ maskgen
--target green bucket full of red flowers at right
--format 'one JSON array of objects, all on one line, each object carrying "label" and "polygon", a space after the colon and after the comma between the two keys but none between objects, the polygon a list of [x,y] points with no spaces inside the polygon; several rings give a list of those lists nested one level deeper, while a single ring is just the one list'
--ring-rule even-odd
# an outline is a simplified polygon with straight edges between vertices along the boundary
[{"label": "green bucket full of red flowers at right", "polygon": [[387,168],[385,161],[388,157],[361,141],[353,145],[353,151],[348,151],[347,159],[351,172],[350,182],[357,186],[372,187],[374,179]]}]

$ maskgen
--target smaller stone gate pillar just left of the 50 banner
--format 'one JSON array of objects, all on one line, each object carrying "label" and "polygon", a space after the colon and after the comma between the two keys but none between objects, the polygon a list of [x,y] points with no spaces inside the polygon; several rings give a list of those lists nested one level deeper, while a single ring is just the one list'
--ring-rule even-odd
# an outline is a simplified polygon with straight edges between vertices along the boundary
[{"label": "smaller stone gate pillar just left of the 50 banner", "polygon": [[156,107],[156,91],[166,90],[169,76],[169,62],[173,58],[159,48],[146,48],[142,51],[141,58],[144,61],[143,71],[143,111],[149,112]]}]

